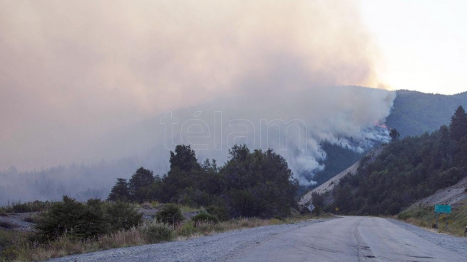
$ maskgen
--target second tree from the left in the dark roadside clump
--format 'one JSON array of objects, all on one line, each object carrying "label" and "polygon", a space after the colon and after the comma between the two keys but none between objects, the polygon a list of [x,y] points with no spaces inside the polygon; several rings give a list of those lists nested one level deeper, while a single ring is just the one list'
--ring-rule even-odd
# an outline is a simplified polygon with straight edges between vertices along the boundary
[{"label": "second tree from the left in the dark roadside clump", "polygon": [[140,167],[128,183],[131,200],[143,203],[151,199],[151,186],[154,182],[153,172]]}]

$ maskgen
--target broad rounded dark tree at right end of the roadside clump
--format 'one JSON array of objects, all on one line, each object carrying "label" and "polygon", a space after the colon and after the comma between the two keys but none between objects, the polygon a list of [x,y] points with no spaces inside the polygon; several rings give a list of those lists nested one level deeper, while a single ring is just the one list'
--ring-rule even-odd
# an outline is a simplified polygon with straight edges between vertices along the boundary
[{"label": "broad rounded dark tree at right end of the roadside clump", "polygon": [[272,150],[250,150],[235,145],[222,167],[225,201],[230,216],[289,216],[297,206],[298,182],[287,162]]}]

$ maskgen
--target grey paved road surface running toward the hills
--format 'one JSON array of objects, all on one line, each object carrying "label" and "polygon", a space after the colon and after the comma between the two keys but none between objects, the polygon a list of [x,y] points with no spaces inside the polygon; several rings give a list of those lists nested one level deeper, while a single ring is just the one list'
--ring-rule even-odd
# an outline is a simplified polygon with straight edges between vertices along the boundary
[{"label": "grey paved road surface running toward the hills", "polygon": [[467,261],[390,221],[347,216],[278,234],[227,261]]}]

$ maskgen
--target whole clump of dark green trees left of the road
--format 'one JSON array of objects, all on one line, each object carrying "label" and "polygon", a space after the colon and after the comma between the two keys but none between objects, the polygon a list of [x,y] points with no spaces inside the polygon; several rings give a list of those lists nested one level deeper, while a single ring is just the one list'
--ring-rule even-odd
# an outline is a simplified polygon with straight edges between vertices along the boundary
[{"label": "whole clump of dark green trees left of the road", "polygon": [[289,216],[297,206],[297,179],[287,162],[272,150],[263,152],[246,145],[229,150],[230,159],[218,167],[214,159],[197,162],[189,145],[170,152],[170,170],[163,177],[140,167],[127,179],[117,179],[109,201],[160,201],[206,206],[218,219],[239,216]]}]

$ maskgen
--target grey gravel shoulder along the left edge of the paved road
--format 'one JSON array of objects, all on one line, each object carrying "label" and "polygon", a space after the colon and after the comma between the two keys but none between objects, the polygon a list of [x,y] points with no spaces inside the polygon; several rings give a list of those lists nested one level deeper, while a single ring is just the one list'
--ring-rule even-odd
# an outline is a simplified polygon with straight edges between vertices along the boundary
[{"label": "grey gravel shoulder along the left edge of the paved road", "polygon": [[54,258],[49,261],[225,261],[242,248],[254,246],[272,236],[292,229],[298,229],[302,226],[327,220],[329,219],[316,219],[278,226],[260,226],[253,229],[229,231],[214,236],[203,236],[185,241],[133,246],[130,248],[115,248],[107,251]]}]

